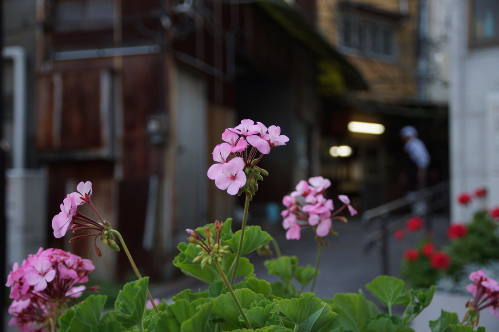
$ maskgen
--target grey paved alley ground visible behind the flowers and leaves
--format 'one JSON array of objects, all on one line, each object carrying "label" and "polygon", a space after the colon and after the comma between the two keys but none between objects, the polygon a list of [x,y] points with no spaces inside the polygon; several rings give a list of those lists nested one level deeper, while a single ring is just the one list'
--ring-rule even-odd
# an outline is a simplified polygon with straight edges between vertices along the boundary
[{"label": "grey paved alley ground visible behind the flowers and leaves", "polygon": [[[434,217],[434,229],[437,243],[445,239],[448,217],[437,215]],[[285,231],[280,224],[265,224],[262,226],[279,243],[283,255],[296,255],[300,265],[315,264],[317,244],[314,241],[311,229],[302,232],[301,239],[286,240]],[[381,258],[379,246],[374,246],[368,254],[362,252],[362,240],[365,235],[375,230],[374,227],[364,226],[360,223],[360,218],[351,218],[348,223],[336,222],[334,230],[339,233],[337,237],[330,237],[329,246],[322,249],[320,270],[317,277],[315,293],[320,297],[332,297],[338,292],[358,292],[359,288],[364,289],[364,285],[381,274]],[[390,237],[390,274],[399,275],[399,263],[405,249],[412,247],[422,237],[421,234],[411,234],[400,243]],[[258,257],[255,253],[247,256],[255,267],[255,274],[259,279],[269,282],[276,281],[277,277],[269,276],[263,261],[268,257]],[[170,299],[185,288],[197,290],[206,289],[207,285],[198,282],[191,277],[182,277],[178,280],[164,284],[152,285],[151,293],[154,297]],[[308,291],[308,289],[305,289]],[[365,292],[370,299],[370,294]],[[8,315],[5,313],[5,317]],[[9,319],[9,318],[8,318]],[[8,322],[6,318],[6,322]],[[7,330],[4,331],[15,331]]]}]

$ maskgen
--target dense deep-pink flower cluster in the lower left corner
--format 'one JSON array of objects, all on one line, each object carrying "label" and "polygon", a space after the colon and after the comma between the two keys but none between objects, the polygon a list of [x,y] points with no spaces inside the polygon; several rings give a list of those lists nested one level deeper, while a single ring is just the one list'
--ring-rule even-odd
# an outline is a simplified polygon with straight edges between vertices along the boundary
[{"label": "dense deep-pink flower cluster in the lower left corner", "polygon": [[14,316],[9,325],[17,324],[19,331],[45,331],[49,318],[60,315],[61,303],[81,296],[86,287],[76,285],[86,283],[94,269],[90,260],[54,248],[40,248],[20,267],[14,263],[5,284],[14,300],[8,308]]}]

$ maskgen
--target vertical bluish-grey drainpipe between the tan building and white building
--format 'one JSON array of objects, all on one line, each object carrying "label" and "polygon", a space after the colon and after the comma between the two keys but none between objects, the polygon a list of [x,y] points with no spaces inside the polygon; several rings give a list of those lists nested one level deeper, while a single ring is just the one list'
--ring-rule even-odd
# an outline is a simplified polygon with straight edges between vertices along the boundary
[{"label": "vertical bluish-grey drainpipe between the tan building and white building", "polygon": [[426,99],[426,77],[428,74],[428,2],[419,0],[418,29],[418,99]]}]

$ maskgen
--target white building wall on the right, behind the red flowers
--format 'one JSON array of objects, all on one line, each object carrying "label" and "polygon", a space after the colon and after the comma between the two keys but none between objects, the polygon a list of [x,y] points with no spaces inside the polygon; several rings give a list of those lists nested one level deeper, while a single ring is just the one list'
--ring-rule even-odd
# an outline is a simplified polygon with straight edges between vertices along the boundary
[{"label": "white building wall on the right, behind the red flowers", "polygon": [[452,7],[450,50],[450,165],[451,220],[467,221],[469,211],[460,207],[456,197],[463,191],[486,186],[488,205],[499,205],[499,195],[487,175],[486,101],[499,91],[499,46],[468,48],[466,0],[454,0]]}]

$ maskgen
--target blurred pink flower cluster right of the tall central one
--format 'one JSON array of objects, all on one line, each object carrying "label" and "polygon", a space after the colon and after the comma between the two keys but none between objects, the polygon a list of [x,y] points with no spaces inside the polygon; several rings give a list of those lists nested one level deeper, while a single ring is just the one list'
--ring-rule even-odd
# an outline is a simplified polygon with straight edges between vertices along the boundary
[{"label": "blurred pink flower cluster right of the tall central one", "polygon": [[282,198],[282,204],[287,207],[281,212],[284,220],[282,227],[287,230],[286,239],[298,240],[301,236],[300,227],[315,227],[317,236],[324,237],[331,232],[332,219],[346,221],[343,217],[335,217],[345,207],[353,216],[357,211],[350,205],[346,195],[339,195],[343,206],[334,214],[332,199],[324,198],[324,190],[331,186],[331,181],[322,176],[310,177],[308,182],[301,180],[296,185],[296,190]]}]

